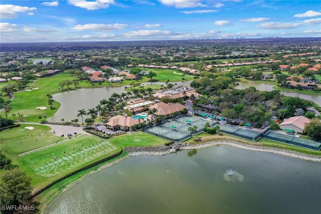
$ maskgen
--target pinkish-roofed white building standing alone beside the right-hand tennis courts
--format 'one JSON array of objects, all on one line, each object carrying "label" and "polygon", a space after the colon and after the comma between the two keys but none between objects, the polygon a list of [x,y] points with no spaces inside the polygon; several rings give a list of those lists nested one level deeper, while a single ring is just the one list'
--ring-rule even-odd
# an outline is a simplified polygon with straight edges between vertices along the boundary
[{"label": "pinkish-roofed white building standing alone beside the right-hand tennis courts", "polygon": [[302,133],[306,123],[309,123],[310,120],[304,116],[296,116],[290,117],[288,119],[284,119],[284,121],[280,124],[280,129],[289,132],[299,132]]}]

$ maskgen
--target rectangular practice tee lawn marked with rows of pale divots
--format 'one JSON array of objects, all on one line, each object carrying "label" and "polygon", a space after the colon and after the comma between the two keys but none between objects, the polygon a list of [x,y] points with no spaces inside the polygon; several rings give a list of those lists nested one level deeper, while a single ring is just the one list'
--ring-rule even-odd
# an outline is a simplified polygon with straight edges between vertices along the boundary
[{"label": "rectangular practice tee lawn marked with rows of pale divots", "polygon": [[[82,135],[23,156],[18,160],[18,165],[32,177],[31,185],[34,188],[42,188],[72,171],[117,153],[119,150],[120,148],[102,141],[99,137]],[[54,157],[58,159],[55,160]]]}]

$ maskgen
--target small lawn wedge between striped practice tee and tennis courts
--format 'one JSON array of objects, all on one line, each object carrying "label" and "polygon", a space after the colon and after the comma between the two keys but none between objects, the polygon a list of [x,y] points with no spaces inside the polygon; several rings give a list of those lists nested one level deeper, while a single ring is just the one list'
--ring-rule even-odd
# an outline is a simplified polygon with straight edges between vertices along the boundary
[{"label": "small lawn wedge between striped practice tee and tennis courts", "polygon": [[108,140],[119,148],[126,146],[157,146],[164,145],[168,140],[142,131],[131,132]]}]

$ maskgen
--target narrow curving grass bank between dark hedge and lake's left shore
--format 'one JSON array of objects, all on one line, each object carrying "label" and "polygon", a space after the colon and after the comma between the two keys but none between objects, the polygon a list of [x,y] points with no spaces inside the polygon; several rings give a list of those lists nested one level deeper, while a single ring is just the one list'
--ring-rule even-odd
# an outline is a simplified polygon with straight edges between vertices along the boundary
[{"label": "narrow curving grass bank between dark hedge and lake's left shore", "polygon": [[65,190],[66,187],[72,185],[75,182],[78,182],[79,180],[83,179],[84,177],[86,177],[87,175],[89,175],[90,172],[94,172],[97,171],[98,168],[102,165],[105,164],[110,164],[112,162],[118,161],[121,158],[125,158],[126,157],[126,152],[123,152],[121,155],[111,159],[111,160],[107,160],[106,162],[100,163],[96,166],[93,166],[92,168],[89,169],[85,169],[83,171],[78,172],[75,175],[72,175],[56,184],[54,184],[53,186],[51,186],[49,189],[47,189],[46,191],[42,192],[41,194],[37,195],[35,197],[35,199],[40,203],[40,205],[38,206],[39,208],[39,212],[38,213],[43,213],[46,209],[46,207],[49,205],[49,203],[55,198],[57,197],[63,190]]}]

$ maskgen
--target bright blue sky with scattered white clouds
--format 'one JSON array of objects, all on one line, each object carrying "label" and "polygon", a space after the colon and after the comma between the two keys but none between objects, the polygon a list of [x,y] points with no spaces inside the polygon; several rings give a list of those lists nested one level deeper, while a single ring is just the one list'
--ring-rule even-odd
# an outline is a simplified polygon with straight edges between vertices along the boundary
[{"label": "bright blue sky with scattered white clouds", "polygon": [[321,37],[320,1],[1,1],[0,42]]}]

